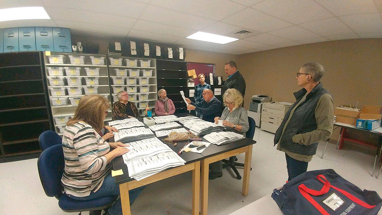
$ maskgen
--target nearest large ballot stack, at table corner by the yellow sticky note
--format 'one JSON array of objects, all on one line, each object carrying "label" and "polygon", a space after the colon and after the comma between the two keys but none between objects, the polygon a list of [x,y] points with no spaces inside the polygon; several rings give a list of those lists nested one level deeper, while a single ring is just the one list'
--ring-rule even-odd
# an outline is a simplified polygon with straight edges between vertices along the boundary
[{"label": "nearest large ballot stack, at table corner by the yellow sticky note", "polygon": [[160,171],[185,165],[186,161],[158,138],[148,138],[129,143],[130,151],[124,155],[129,177],[137,181]]}]

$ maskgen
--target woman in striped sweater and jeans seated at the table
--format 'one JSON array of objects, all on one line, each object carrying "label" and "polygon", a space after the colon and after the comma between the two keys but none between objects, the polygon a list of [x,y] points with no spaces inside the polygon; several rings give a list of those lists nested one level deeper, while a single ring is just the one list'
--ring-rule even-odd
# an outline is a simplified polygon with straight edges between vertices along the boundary
[{"label": "woman in striped sweater and jeans seated at the table", "polygon": [[[110,161],[129,150],[121,142],[107,143],[98,133],[110,101],[98,94],[83,96],[74,117],[66,124],[62,138],[65,168],[61,182],[66,195],[76,200],[92,200],[120,194],[119,186],[111,176]],[[114,150],[110,151],[110,147]],[[129,191],[130,204],[143,187]],[[121,200],[108,209],[110,215],[122,214]]]}]

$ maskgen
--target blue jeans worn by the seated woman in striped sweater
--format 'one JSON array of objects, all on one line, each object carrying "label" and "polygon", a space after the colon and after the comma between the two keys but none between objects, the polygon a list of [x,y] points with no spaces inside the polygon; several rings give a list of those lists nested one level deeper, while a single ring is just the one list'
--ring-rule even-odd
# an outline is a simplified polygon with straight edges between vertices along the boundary
[{"label": "blue jeans worn by the seated woman in striped sweater", "polygon": [[[138,187],[129,191],[130,205],[133,204],[133,202],[138,197],[138,195],[142,192],[144,187],[145,186]],[[92,199],[99,199],[102,197],[119,195],[119,194],[120,194],[119,185],[115,183],[115,178],[113,178],[112,175],[110,174],[105,177],[101,187],[96,192],[92,191],[90,195],[88,196],[77,197],[70,194],[66,194],[66,195],[68,195],[70,198],[75,200],[92,200]],[[118,199],[116,202],[114,202],[112,207],[109,208],[108,213],[110,215],[122,215],[121,199]]]}]

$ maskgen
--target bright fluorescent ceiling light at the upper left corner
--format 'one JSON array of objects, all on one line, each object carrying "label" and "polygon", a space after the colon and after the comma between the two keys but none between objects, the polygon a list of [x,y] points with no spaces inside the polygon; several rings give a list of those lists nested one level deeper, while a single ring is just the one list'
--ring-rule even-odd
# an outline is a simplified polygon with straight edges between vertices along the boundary
[{"label": "bright fluorescent ceiling light at the upper left corner", "polygon": [[6,8],[0,10],[0,22],[10,20],[50,20],[43,7]]}]

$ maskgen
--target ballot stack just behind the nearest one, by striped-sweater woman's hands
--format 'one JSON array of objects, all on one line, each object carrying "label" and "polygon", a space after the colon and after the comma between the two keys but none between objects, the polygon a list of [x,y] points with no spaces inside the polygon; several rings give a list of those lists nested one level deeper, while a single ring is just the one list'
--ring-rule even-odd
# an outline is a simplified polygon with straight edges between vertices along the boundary
[{"label": "ballot stack just behind the nearest one, by striped-sweater woman's hands", "polygon": [[150,129],[144,127],[123,129],[120,132],[114,133],[115,142],[129,143],[146,138],[155,137]]}]

